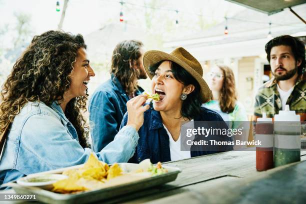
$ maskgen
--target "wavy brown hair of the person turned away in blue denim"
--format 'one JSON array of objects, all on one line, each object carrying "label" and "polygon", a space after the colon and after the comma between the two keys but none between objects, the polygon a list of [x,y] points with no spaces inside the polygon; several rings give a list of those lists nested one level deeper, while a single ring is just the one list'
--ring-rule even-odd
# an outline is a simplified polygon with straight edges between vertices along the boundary
[{"label": "wavy brown hair of the person turned away in blue denim", "polygon": [[128,95],[132,95],[137,89],[139,71],[131,68],[130,63],[138,63],[142,46],[141,41],[124,40],[119,42],[112,52],[110,73],[118,78]]}]

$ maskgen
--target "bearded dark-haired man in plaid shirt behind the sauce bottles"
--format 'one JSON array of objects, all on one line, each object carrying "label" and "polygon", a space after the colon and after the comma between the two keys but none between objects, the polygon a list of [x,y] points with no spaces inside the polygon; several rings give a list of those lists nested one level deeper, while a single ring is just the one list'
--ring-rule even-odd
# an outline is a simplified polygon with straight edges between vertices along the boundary
[{"label": "bearded dark-haired man in plaid shirt behind the sauce bottles", "polygon": [[306,120],[305,45],[296,37],[282,35],[265,45],[273,77],[264,83],[255,97],[254,117],[266,112],[274,117],[285,104]]}]

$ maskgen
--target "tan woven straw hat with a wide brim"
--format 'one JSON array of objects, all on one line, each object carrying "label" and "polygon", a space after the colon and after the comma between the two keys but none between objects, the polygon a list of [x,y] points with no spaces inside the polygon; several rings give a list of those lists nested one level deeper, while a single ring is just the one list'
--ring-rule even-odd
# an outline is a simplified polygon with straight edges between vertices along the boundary
[{"label": "tan woven straw hat with a wide brim", "polygon": [[202,77],[203,69],[201,64],[184,48],[177,47],[169,54],[158,50],[146,51],[143,54],[143,66],[150,79],[152,79],[153,74],[150,73],[149,67],[162,60],[174,61],[188,71],[197,80],[201,88],[201,102],[207,102],[211,99],[211,91]]}]

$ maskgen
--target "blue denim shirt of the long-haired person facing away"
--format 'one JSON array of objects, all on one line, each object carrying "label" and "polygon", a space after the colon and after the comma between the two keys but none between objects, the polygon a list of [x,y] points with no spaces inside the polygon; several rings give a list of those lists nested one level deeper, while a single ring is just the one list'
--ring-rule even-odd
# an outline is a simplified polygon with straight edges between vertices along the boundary
[{"label": "blue denim shirt of the long-haired person facing away", "polygon": [[[143,89],[138,86],[135,95]],[[119,131],[128,95],[114,75],[102,83],[89,99],[89,121],[91,124],[92,147],[95,152],[100,151],[114,138]]]}]

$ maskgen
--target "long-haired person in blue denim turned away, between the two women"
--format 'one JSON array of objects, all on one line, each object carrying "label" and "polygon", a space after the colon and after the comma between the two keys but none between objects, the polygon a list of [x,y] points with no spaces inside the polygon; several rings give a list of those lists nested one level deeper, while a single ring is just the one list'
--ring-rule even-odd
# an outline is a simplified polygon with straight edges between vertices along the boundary
[{"label": "long-haired person in blue denim turned away, between the two women", "polygon": [[96,88],[88,110],[91,128],[92,148],[100,151],[119,131],[126,112],[126,102],[144,90],[138,86],[138,79],[145,79],[142,65],[143,44],[138,40],[119,42],[111,57],[111,78]]}]

